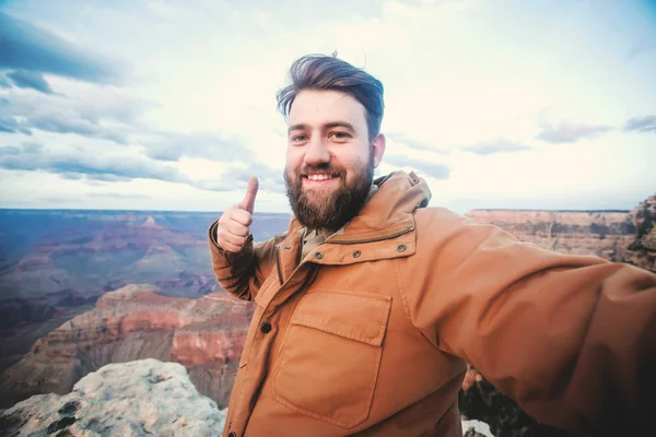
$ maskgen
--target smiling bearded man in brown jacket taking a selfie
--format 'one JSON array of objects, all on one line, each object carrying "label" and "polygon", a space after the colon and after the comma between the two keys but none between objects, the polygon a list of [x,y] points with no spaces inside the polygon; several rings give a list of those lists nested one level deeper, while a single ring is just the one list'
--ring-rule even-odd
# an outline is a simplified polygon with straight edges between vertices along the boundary
[{"label": "smiling bearded man in brown jacket taking a selfie", "polygon": [[209,232],[216,279],[257,304],[225,436],[461,436],[466,362],[541,422],[648,429],[656,275],[426,208],[414,174],[373,181],[383,85],[342,60],[301,58],[278,101],[288,232],[253,243],[255,178]]}]

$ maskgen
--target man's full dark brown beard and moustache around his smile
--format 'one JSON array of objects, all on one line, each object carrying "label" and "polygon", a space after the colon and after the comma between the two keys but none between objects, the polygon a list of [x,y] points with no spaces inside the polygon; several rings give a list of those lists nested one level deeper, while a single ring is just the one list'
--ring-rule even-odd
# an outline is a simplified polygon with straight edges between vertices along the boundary
[{"label": "man's full dark brown beard and moustache around his smile", "polygon": [[[312,200],[306,190],[303,190],[303,176],[312,170],[327,173],[340,179],[340,186],[327,193],[323,199]],[[353,218],[366,201],[374,178],[373,153],[367,165],[358,169],[353,180],[347,184],[347,174],[343,168],[336,168],[329,164],[319,166],[305,166],[297,168],[294,178],[284,170],[286,196],[294,215],[303,226],[309,229],[337,231]],[[313,190],[315,191],[315,190]],[[319,194],[320,189],[314,194]],[[316,198],[317,196],[314,196]]]}]

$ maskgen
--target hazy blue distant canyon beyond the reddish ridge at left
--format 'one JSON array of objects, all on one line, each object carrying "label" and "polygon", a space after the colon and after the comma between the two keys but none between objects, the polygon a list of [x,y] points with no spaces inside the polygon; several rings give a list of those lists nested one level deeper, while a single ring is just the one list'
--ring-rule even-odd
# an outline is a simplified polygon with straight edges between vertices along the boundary
[{"label": "hazy blue distant canyon beyond the reddish ridge at left", "polygon": [[[220,212],[0,210],[0,373],[34,342],[91,310],[107,292],[152,284],[199,298],[221,291],[207,231]],[[289,214],[256,214],[254,236],[288,226]]]}]

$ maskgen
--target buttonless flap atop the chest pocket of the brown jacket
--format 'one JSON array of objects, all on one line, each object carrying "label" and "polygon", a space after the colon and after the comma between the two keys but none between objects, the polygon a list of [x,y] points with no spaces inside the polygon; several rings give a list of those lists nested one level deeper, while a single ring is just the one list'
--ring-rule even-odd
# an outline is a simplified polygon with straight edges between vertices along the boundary
[{"label": "buttonless flap atop the chest pocket of the brown jacket", "polygon": [[303,296],[291,323],[379,346],[390,308],[388,296],[319,290]]}]

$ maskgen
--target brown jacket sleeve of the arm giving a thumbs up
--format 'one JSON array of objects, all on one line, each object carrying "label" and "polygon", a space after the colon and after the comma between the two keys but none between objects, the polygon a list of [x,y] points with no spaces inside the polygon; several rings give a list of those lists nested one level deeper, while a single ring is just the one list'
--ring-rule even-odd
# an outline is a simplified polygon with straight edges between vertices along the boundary
[{"label": "brown jacket sleeve of the arm giving a thumbs up", "polygon": [[253,235],[249,235],[242,251],[232,253],[223,250],[216,243],[218,226],[219,223],[214,222],[208,232],[214,275],[226,292],[241,299],[253,300],[274,268],[277,246],[286,233],[262,243],[254,243]]}]

